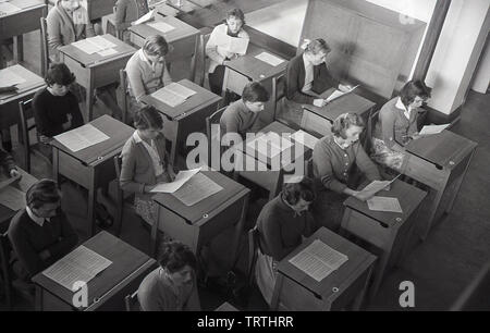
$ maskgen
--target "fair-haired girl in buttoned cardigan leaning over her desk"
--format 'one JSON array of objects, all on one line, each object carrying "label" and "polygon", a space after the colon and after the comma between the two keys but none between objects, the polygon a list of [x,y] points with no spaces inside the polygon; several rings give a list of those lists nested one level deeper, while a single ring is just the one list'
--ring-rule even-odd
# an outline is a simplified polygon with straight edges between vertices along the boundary
[{"label": "fair-haired girl in buttoned cardigan leaning over her desk", "polygon": [[[363,119],[355,113],[339,115],[332,125],[332,135],[321,138],[314,148],[313,164],[318,199],[313,207],[315,220],[322,226],[336,232],[343,215],[343,202],[348,196],[358,196],[357,188],[367,181],[380,181],[376,164],[369,159],[359,135],[363,133]],[[367,184],[366,184],[367,185]]]}]

